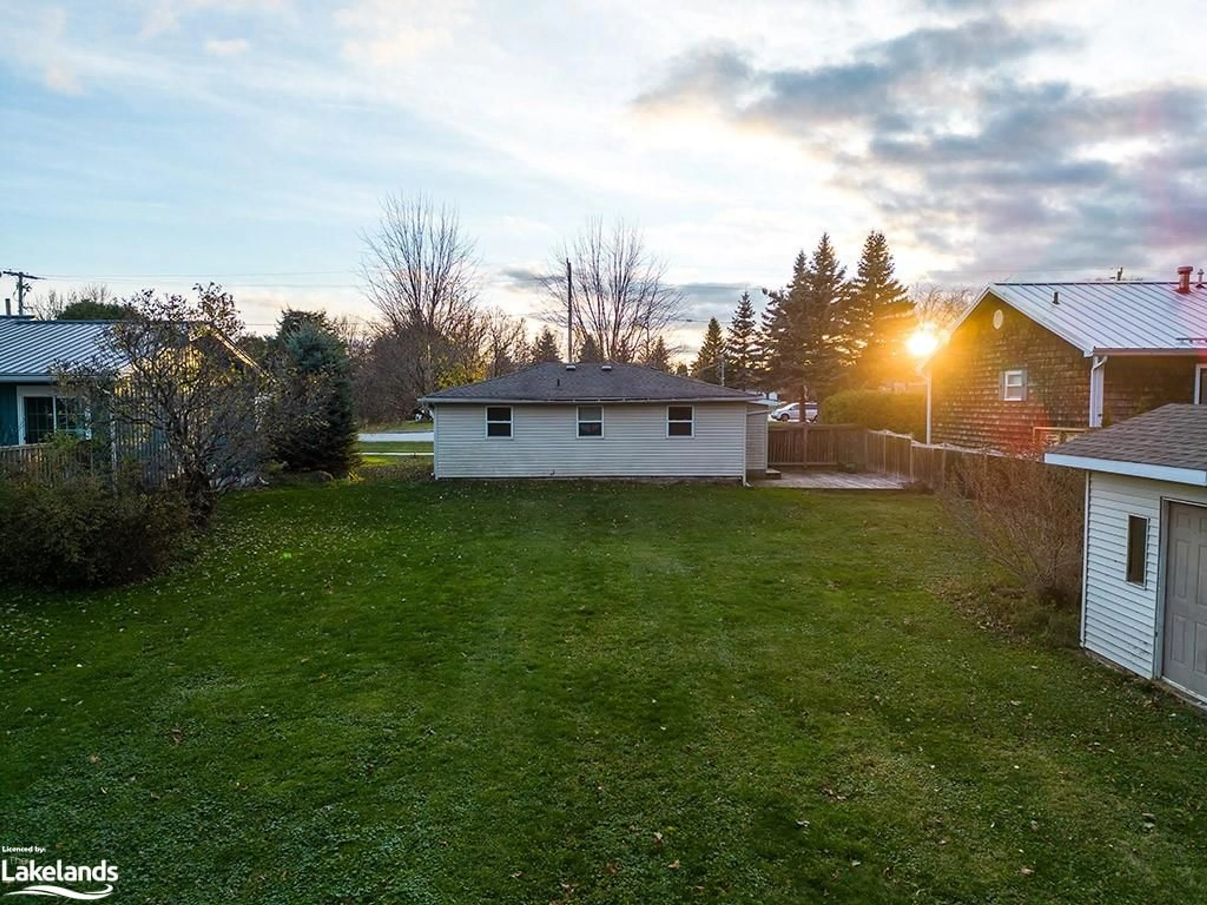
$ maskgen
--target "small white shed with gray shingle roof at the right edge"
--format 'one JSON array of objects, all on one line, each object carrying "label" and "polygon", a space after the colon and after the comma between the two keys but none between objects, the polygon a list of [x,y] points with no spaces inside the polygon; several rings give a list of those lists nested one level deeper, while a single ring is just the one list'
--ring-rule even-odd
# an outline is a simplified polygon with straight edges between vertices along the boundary
[{"label": "small white shed with gray shingle roof at the right edge", "polygon": [[1207,701],[1207,405],[1162,405],[1044,461],[1085,471],[1081,644]]}]

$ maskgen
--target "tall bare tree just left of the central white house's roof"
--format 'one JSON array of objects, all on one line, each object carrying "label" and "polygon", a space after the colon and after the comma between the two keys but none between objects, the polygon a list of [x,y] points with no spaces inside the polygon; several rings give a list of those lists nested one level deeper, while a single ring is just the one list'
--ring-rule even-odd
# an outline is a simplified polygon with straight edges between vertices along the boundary
[{"label": "tall bare tree just left of the central white house's roof", "polygon": [[478,258],[456,209],[389,195],[363,241],[365,294],[401,356],[395,383],[420,396],[471,372],[483,334]]}]

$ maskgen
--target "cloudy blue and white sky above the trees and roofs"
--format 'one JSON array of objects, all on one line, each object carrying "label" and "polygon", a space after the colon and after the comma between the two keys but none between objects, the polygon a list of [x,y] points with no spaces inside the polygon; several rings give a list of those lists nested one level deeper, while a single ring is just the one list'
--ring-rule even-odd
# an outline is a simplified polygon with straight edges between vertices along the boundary
[{"label": "cloudy blue and white sky above the trees and roofs", "polygon": [[[905,281],[1207,265],[1202,5],[1107,0],[0,0],[0,268],[214,279],[268,329],[360,317],[379,199],[455,204],[485,298],[540,308],[589,216],[690,298],[829,230]],[[2,294],[12,293],[10,280]]]}]

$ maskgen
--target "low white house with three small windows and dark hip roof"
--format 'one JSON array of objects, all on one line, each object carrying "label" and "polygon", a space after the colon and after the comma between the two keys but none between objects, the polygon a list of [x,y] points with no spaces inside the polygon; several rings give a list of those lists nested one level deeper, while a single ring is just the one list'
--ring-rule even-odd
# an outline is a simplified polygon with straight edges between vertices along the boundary
[{"label": "low white house with three small windows and dark hip roof", "polygon": [[637,364],[536,364],[430,393],[437,478],[731,478],[766,471],[759,396]]}]

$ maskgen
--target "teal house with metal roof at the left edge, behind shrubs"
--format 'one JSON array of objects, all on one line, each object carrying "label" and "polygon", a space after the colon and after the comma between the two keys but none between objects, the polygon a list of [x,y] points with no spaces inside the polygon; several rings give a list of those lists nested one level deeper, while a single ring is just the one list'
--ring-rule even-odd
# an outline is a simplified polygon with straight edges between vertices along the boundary
[{"label": "teal house with metal roof at the left edge, behind shrubs", "polygon": [[110,323],[0,317],[0,446],[87,431],[78,399],[57,390],[54,366],[92,360]]}]

